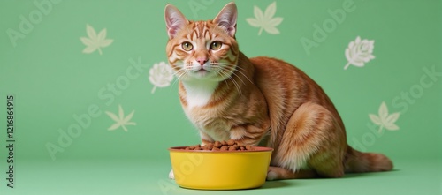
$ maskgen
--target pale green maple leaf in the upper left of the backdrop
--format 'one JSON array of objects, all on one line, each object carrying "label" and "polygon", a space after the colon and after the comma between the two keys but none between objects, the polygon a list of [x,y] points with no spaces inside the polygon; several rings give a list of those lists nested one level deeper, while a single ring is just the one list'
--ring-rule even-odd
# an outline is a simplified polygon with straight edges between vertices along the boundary
[{"label": "pale green maple leaf in the upper left of the backdrop", "polygon": [[110,43],[113,42],[111,39],[106,39],[106,28],[96,34],[95,29],[92,26],[86,25],[86,33],[88,33],[88,38],[80,37],[80,41],[86,45],[86,48],[83,49],[83,53],[90,54],[98,49],[98,53],[102,55],[102,48],[108,47]]}]

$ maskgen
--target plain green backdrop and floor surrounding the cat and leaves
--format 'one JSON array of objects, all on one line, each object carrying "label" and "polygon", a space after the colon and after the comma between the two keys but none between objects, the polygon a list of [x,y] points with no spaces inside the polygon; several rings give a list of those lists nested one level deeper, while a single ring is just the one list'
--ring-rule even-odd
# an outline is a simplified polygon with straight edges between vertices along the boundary
[{"label": "plain green backdrop and floor surrounding the cat and leaves", "polygon": [[[442,1],[436,0],[278,0],[279,34],[258,34],[259,27],[246,20],[255,18],[255,6],[265,11],[275,1],[236,1],[241,51],[306,71],[338,108],[349,144],[388,155],[394,171],[267,182],[251,191],[192,191],[169,181],[167,148],[194,145],[199,137],[179,105],[176,78],[152,93],[149,71],[167,61],[164,6],[176,5],[188,19],[213,19],[228,2],[1,1],[0,194],[442,194]],[[345,11],[341,22],[333,18],[330,12],[352,2],[354,11]],[[23,28],[24,20],[32,28]],[[334,26],[324,40],[315,40],[315,26],[327,22]],[[97,34],[105,28],[113,40],[102,54],[82,52],[87,25]],[[11,38],[11,31],[21,38]],[[344,70],[345,50],[357,36],[374,40],[376,58]],[[304,48],[302,39],[316,41],[316,47]],[[9,165],[9,94],[14,189],[1,174]],[[382,102],[389,114],[400,113],[399,130],[378,132],[370,120]],[[106,112],[118,115],[118,105],[125,116],[133,112],[136,125],[126,125],[127,131],[108,130],[115,121]],[[72,137],[73,125],[80,131]],[[51,156],[48,146],[59,151]]]}]

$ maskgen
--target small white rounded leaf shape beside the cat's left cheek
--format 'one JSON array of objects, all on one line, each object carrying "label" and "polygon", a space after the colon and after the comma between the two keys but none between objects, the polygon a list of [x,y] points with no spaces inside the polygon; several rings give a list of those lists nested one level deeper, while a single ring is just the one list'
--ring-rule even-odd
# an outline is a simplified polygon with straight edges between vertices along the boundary
[{"label": "small white rounded leaf shape beside the cat's left cheek", "polygon": [[173,79],[173,71],[171,66],[161,62],[154,64],[149,70],[149,80],[154,85],[154,88],[150,93],[154,94],[156,87],[165,87],[171,85]]}]

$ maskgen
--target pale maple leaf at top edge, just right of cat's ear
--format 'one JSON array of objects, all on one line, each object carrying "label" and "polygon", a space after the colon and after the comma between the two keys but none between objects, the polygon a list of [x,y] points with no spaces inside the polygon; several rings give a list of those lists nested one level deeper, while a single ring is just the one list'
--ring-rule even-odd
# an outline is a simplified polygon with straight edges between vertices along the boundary
[{"label": "pale maple leaf at top edge, just right of cat's ear", "polygon": [[246,21],[250,26],[259,27],[258,35],[261,35],[263,30],[269,34],[279,34],[279,30],[276,26],[281,24],[283,18],[273,18],[277,10],[276,2],[271,3],[265,9],[264,13],[256,5],[254,6],[255,18],[248,18]]}]

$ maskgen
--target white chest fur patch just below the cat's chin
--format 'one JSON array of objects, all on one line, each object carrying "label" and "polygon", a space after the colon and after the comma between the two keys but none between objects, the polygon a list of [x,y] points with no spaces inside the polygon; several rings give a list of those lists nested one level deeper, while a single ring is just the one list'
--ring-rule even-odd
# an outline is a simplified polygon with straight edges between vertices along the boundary
[{"label": "white chest fur patch just below the cat's chin", "polygon": [[188,109],[201,107],[209,103],[212,94],[218,86],[218,82],[183,82],[186,89],[186,101]]}]

